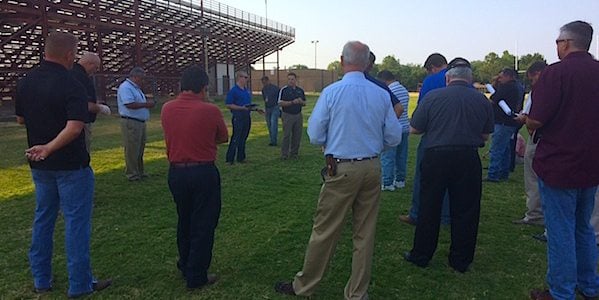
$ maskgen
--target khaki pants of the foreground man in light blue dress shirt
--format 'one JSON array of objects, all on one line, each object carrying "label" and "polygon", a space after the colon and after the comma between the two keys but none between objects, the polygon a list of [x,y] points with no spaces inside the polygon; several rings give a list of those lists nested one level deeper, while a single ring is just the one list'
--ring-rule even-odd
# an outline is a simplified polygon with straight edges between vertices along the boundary
[{"label": "khaki pants of the foreground man in light blue dress shirt", "polygon": [[381,194],[379,159],[337,165],[337,175],[325,175],[302,271],[293,281],[297,295],[310,296],[333,256],[347,212],[352,211],[353,255],[345,299],[367,299],[374,235]]}]

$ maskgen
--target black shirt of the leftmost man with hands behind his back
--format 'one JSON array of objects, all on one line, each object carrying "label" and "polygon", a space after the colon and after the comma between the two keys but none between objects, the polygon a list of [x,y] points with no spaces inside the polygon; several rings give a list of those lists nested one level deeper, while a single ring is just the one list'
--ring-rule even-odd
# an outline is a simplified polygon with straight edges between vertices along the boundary
[{"label": "black shirt of the leftmost man with hands behind his back", "polygon": [[[19,80],[15,114],[25,119],[29,147],[47,144],[66,127],[67,121],[86,121],[87,95],[65,67],[42,61]],[[29,165],[41,170],[77,170],[89,166],[83,131],[45,160],[31,161]]]}]

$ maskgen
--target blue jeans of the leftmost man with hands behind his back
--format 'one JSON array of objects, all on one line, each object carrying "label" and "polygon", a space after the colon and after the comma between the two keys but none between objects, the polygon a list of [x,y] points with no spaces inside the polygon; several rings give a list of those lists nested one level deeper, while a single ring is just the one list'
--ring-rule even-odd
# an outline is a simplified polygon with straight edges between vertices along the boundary
[{"label": "blue jeans of the leftmost man with hands behind his back", "polygon": [[47,171],[32,169],[36,207],[29,262],[38,289],[52,284],[54,225],[62,210],[65,248],[69,272],[69,295],[89,293],[93,277],[89,257],[94,173],[90,167],[79,170]]}]

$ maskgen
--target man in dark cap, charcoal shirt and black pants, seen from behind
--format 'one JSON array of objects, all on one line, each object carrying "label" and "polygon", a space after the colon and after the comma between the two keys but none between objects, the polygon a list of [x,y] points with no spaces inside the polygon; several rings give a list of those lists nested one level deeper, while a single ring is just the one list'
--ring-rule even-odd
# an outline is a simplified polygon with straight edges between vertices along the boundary
[{"label": "man in dark cap, charcoal shirt and black pants, seen from behind", "polygon": [[493,132],[493,109],[471,88],[472,70],[465,59],[454,59],[445,74],[447,87],[429,92],[412,115],[411,133],[424,134],[420,211],[414,246],[405,259],[425,267],[437,248],[441,206],[449,191],[451,247],[449,265],[465,272],[474,259],[482,167],[478,147]]}]

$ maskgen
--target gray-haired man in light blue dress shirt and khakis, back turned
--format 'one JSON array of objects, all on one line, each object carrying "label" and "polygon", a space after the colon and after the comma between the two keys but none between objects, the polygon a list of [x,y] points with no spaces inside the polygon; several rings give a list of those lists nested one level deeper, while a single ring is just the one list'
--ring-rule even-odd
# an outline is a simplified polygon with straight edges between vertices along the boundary
[{"label": "gray-haired man in light blue dress shirt and khakis, back turned", "polygon": [[364,77],[369,53],[360,42],[345,44],[341,56],[345,75],[323,90],[308,120],[310,142],[324,148],[327,165],[332,166],[322,174],[324,184],[302,271],[293,282],[278,282],[279,293],[314,293],[351,209],[354,251],[344,298],[368,298],[381,193],[378,155],[399,144],[402,136],[389,93]]}]

